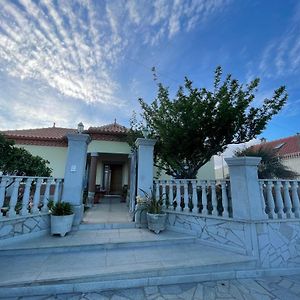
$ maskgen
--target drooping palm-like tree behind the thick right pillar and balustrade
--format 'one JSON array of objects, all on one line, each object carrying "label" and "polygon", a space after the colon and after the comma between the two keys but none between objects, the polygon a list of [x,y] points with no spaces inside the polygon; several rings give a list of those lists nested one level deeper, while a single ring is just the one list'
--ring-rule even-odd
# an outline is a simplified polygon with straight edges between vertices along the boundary
[{"label": "drooping palm-like tree behind the thick right pillar and balustrade", "polygon": [[261,157],[258,165],[258,178],[260,179],[295,179],[298,173],[292,171],[282,163],[282,158],[278,155],[278,150],[268,147],[249,147],[237,150],[235,156],[256,156]]}]

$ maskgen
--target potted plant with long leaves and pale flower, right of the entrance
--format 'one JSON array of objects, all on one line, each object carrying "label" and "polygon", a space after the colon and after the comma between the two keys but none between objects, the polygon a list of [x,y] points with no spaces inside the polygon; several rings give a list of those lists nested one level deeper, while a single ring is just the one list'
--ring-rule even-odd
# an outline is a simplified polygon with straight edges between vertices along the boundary
[{"label": "potted plant with long leaves and pale flower, right of the entrance", "polygon": [[151,194],[144,192],[145,209],[147,211],[148,229],[156,234],[166,229],[167,214],[162,211],[162,199],[156,199],[153,191]]}]

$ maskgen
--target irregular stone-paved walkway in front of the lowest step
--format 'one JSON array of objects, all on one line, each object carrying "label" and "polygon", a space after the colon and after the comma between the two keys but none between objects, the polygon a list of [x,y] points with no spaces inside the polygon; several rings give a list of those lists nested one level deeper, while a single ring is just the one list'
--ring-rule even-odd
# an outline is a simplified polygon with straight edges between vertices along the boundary
[{"label": "irregular stone-paved walkway in front of the lowest step", "polygon": [[192,284],[151,286],[93,293],[72,293],[43,297],[10,298],[18,300],[297,300],[300,276],[209,281]]}]

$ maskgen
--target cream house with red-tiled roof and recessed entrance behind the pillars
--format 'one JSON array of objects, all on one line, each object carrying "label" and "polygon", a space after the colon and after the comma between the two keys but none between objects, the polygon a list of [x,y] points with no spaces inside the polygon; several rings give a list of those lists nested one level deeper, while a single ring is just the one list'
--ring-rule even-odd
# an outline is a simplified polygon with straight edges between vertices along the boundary
[{"label": "cream house with red-tiled roof and recessed entrance behind the pillars", "polygon": [[[15,141],[17,147],[39,155],[50,162],[53,177],[64,177],[68,151],[67,135],[78,132],[75,128],[56,127],[7,130],[2,133]],[[89,127],[86,181],[88,191],[120,195],[124,186],[130,185],[131,148],[126,141],[128,129],[116,121],[98,127]],[[155,170],[154,170],[155,172]],[[198,179],[215,179],[213,159],[198,172]],[[162,174],[160,179],[170,179]]]}]

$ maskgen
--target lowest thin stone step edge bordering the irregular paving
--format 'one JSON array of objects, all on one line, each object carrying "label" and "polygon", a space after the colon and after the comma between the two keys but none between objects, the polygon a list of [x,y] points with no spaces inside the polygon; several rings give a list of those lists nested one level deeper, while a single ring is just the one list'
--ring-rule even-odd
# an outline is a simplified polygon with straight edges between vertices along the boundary
[{"label": "lowest thin stone step edge bordering the irregular paving", "polygon": [[87,293],[93,291],[116,290],[124,288],[137,288],[146,286],[161,286],[169,284],[193,283],[205,281],[219,281],[229,279],[260,278],[268,276],[298,275],[300,268],[277,268],[277,269],[247,269],[222,271],[215,273],[195,273],[170,276],[156,276],[139,279],[109,280],[104,282],[61,283],[55,286],[32,286],[0,288],[0,298],[19,296],[43,296],[64,293]]}]

